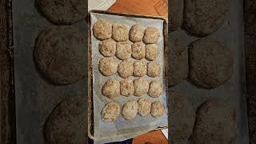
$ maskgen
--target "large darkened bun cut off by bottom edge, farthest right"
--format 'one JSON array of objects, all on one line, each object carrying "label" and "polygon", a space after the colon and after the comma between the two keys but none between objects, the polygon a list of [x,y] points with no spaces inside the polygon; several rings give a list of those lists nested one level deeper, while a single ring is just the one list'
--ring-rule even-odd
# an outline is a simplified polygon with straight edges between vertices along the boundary
[{"label": "large darkened bun cut off by bottom edge, farthest right", "polygon": [[238,137],[235,110],[224,102],[207,101],[197,110],[192,139],[197,144],[233,144]]}]

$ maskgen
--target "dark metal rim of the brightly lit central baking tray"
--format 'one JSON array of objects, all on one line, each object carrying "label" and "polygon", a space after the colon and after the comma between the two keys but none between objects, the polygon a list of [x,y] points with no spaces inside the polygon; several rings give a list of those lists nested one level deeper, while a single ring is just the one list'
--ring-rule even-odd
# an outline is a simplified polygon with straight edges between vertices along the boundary
[{"label": "dark metal rim of the brightly lit central baking tray", "polygon": [[[92,57],[91,57],[91,52],[92,52],[92,47],[91,47],[91,31],[90,31],[90,14],[91,13],[98,13],[98,14],[111,14],[111,15],[118,15],[118,16],[126,16],[126,17],[133,17],[133,18],[150,18],[150,19],[161,19],[163,20],[163,38],[164,38],[164,59],[165,59],[165,62],[166,60],[168,59],[168,55],[169,55],[169,52],[168,52],[168,24],[167,24],[167,21],[166,21],[166,18],[164,17],[161,17],[161,16],[151,16],[151,15],[142,15],[142,14],[127,14],[127,13],[115,13],[115,12],[109,12],[109,11],[106,11],[106,10],[90,10],[89,13],[88,13],[88,19],[87,19],[87,22],[88,22],[88,87],[87,87],[87,91],[88,91],[88,103],[89,103],[89,106],[88,106],[88,137],[92,140],[94,140],[94,126],[93,126],[93,115],[94,115],[94,107],[93,107],[93,97],[92,97],[92,87],[93,87],[93,74],[92,74]],[[164,82],[166,83],[166,91],[168,89],[168,78],[166,78],[168,75],[166,74],[166,64],[164,64],[165,66],[165,70],[164,70]],[[167,97],[166,97],[166,105],[167,105]],[[166,129],[168,128],[167,126],[164,126],[164,127],[156,127],[154,130],[162,130],[162,129]]]}]

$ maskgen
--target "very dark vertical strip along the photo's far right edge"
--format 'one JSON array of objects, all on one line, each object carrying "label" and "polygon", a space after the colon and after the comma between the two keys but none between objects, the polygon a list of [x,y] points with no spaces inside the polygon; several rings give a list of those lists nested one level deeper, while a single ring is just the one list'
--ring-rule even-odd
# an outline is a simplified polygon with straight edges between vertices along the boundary
[{"label": "very dark vertical strip along the photo's far right edge", "polygon": [[256,143],[256,1],[245,2],[246,96],[250,143]]}]

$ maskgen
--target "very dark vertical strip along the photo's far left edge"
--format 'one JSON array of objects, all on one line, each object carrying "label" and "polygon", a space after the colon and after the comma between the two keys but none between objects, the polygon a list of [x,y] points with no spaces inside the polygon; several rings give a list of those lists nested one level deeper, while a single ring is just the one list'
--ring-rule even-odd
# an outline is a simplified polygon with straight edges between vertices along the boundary
[{"label": "very dark vertical strip along the photo's far left edge", "polygon": [[0,1],[0,143],[15,143],[14,70],[10,1]]}]

